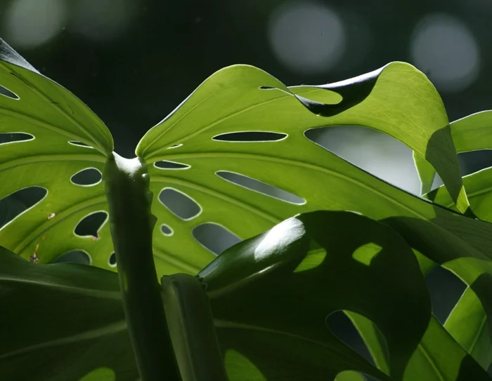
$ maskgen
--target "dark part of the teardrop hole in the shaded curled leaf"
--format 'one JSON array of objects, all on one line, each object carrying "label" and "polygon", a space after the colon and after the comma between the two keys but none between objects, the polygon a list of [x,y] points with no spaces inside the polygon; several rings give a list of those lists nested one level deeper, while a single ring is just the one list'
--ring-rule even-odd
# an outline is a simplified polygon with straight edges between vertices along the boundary
[{"label": "dark part of the teardrop hole in the shaded curled leaf", "polygon": [[[374,365],[373,356],[371,356],[361,334],[358,333],[356,326],[344,311],[332,312],[327,316],[325,323],[333,335]],[[384,336],[382,339],[384,340]],[[384,340],[385,342],[386,340]]]}]

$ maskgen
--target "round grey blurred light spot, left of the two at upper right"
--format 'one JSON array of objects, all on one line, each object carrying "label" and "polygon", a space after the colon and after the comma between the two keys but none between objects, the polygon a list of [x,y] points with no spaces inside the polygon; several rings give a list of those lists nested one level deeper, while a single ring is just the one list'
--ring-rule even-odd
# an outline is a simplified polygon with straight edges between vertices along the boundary
[{"label": "round grey blurred light spot, left of the two at upper right", "polygon": [[293,72],[328,72],[345,50],[342,19],[327,6],[292,1],[271,15],[268,39],[276,58]]}]

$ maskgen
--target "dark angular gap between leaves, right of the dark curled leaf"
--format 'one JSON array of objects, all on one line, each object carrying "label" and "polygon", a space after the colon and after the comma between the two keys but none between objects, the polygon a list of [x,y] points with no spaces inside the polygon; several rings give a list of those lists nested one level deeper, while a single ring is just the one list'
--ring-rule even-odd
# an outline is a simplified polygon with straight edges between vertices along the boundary
[{"label": "dark angular gap between leaves, right of the dark curled leaf", "polygon": [[449,314],[458,303],[467,285],[453,272],[441,266],[436,266],[427,276],[425,283],[432,302],[432,314],[444,324]]}]

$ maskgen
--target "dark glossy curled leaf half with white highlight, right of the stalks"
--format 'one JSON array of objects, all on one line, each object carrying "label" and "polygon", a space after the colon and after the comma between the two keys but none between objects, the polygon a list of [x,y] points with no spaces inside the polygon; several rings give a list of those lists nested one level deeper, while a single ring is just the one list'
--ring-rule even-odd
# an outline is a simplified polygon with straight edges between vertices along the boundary
[{"label": "dark glossy curled leaf half with white highlight, right of the stalks", "polygon": [[[392,380],[488,380],[446,330],[429,321],[427,288],[406,242],[355,213],[286,220],[226,250],[200,276],[226,356],[241,354],[265,380],[330,380],[347,369],[375,376],[328,331],[325,318],[339,309],[379,328]],[[285,359],[287,368],[280,364]],[[247,370],[238,378],[249,379]]]}]

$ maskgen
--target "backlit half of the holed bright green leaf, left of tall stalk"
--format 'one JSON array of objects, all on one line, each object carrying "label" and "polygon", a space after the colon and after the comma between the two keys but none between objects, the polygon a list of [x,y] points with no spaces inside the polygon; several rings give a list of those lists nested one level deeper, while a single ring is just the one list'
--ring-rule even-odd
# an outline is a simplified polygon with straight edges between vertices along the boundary
[{"label": "backlit half of the holed bright green leaf, left of tall stalk", "polygon": [[0,85],[11,92],[10,97],[5,91],[0,95],[0,133],[31,135],[31,140],[0,145],[0,198],[26,187],[48,191],[0,230],[0,244],[23,258],[37,250],[42,263],[70,250],[98,252],[93,265],[110,268],[107,226],[101,229],[101,240],[73,232],[86,215],[107,210],[103,185],[86,187],[71,181],[86,168],[103,168],[113,147],[110,132],[75,95],[39,74],[1,40]]}]

